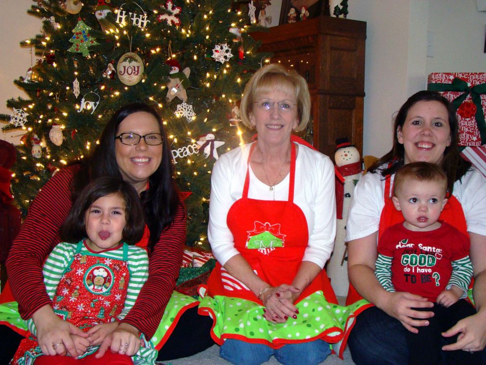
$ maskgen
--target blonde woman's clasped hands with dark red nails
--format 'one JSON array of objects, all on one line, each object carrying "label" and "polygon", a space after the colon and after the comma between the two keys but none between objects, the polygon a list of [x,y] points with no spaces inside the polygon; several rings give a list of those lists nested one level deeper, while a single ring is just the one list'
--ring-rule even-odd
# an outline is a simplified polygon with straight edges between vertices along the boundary
[{"label": "blonde woman's clasped hands with dark red nails", "polygon": [[264,318],[274,323],[285,323],[289,317],[296,318],[298,311],[293,305],[300,295],[300,289],[282,284],[272,287],[262,298],[265,305]]}]

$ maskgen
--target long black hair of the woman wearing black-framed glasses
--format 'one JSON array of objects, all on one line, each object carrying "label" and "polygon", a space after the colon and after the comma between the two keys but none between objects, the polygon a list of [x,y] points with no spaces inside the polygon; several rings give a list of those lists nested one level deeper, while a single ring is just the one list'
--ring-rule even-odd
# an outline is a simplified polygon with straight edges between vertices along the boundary
[{"label": "long black hair of the woman wearing black-framed glasses", "polygon": [[99,138],[99,144],[93,154],[83,161],[73,179],[72,200],[75,200],[79,192],[92,180],[100,176],[114,176],[122,179],[120,168],[115,156],[115,136],[121,122],[130,114],[146,112],[157,120],[160,134],[163,136],[162,160],[159,168],[149,177],[149,188],[142,192],[140,199],[144,207],[145,222],[150,231],[148,243],[149,252],[153,251],[161,232],[168,227],[182,203],[179,200],[179,192],[174,180],[171,156],[172,153],[167,143],[167,134],[162,125],[159,114],[151,106],[143,103],[133,103],[122,106],[110,119]]}]

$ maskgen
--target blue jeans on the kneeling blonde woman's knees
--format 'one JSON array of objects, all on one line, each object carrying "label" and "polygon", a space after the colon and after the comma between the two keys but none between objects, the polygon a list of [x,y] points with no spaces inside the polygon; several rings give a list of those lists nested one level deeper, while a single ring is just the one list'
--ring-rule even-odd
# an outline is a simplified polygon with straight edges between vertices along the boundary
[{"label": "blue jeans on the kneeling blonde woman's knees", "polygon": [[329,343],[321,339],[284,345],[278,350],[259,343],[227,339],[219,348],[219,356],[236,365],[260,365],[272,355],[284,365],[313,365],[322,363],[329,354]]}]

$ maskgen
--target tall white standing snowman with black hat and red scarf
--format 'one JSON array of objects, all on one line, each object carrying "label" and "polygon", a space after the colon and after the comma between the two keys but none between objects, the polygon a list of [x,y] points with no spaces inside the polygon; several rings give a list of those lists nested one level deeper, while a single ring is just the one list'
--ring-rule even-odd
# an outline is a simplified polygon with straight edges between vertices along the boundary
[{"label": "tall white standing snowman with black hat and red scarf", "polygon": [[336,295],[346,296],[349,286],[345,242],[346,220],[354,186],[363,173],[360,153],[355,146],[349,143],[347,138],[338,138],[336,140],[334,160],[337,174],[340,174],[342,179],[336,179],[336,212],[338,218],[336,240],[334,241],[334,251],[327,263],[326,271]]}]

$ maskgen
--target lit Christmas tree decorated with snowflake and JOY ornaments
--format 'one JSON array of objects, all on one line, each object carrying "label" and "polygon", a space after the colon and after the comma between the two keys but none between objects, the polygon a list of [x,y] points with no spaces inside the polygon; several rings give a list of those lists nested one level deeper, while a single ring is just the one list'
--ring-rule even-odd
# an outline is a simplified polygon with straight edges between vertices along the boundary
[{"label": "lit Christmas tree decorated with snowflake and JOY ornaments", "polygon": [[[12,190],[25,213],[57,169],[82,159],[124,104],[160,112],[179,187],[191,192],[188,245],[208,248],[210,172],[243,139],[238,101],[267,55],[248,34],[247,11],[231,0],[39,0],[27,10],[43,19],[21,42],[38,62],[14,82],[28,95],[10,99],[10,122],[22,128]],[[261,29],[258,29],[261,30]]]}]

